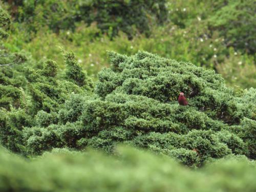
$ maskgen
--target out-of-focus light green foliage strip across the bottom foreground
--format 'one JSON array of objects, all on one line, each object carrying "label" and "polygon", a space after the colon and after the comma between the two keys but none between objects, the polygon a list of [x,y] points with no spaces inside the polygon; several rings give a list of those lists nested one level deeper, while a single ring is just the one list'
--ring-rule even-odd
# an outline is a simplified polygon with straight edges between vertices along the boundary
[{"label": "out-of-focus light green foliage strip across the bottom foreground", "polygon": [[[256,190],[255,164],[223,159],[197,172],[172,159],[131,148],[118,157],[55,149],[27,161],[0,151],[1,191],[248,191]],[[246,189],[245,189],[246,186]]]}]

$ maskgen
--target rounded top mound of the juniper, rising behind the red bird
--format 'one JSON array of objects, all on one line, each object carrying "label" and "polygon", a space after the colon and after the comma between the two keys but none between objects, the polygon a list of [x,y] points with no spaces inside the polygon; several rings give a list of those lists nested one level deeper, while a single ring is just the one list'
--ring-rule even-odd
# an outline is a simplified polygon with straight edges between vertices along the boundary
[{"label": "rounded top mound of the juniper, rising behind the red bird", "polygon": [[[122,56],[118,54],[111,56],[113,66],[116,66],[115,60]],[[173,104],[177,100],[177,95],[183,92],[189,102],[197,106],[200,111],[207,112],[215,108],[215,118],[223,119],[221,116],[225,113],[226,122],[236,121],[231,117],[232,109],[229,106],[232,91],[225,87],[224,80],[214,71],[203,70],[191,63],[179,63],[145,52],[138,52],[135,56],[120,62],[119,70],[121,72],[115,73],[116,68],[111,67],[99,73],[99,82],[96,86],[96,93],[99,96],[104,97],[115,90],[112,97],[120,92],[143,95]]]}]

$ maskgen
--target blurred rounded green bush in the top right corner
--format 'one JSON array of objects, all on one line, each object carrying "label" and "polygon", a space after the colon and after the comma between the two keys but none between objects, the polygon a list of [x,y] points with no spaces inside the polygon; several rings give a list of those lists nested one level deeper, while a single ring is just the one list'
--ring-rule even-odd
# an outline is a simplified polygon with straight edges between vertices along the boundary
[{"label": "blurred rounded green bush in the top right corner", "polygon": [[256,51],[256,3],[253,0],[228,1],[215,15],[209,18],[209,25],[220,31],[225,44],[250,54]]}]

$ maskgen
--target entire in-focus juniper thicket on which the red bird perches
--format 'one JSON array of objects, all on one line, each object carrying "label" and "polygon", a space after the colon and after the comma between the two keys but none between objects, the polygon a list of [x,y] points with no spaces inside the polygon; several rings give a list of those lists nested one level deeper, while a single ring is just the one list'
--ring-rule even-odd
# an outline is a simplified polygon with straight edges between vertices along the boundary
[{"label": "entire in-focus juniper thicket on which the red bird perches", "polygon": [[[56,63],[45,61],[41,70],[26,72],[23,106],[1,111],[0,138],[11,151],[93,147],[113,153],[126,143],[192,167],[230,154],[255,159],[255,89],[234,95],[214,71],[143,51],[109,52],[111,67],[94,85],[74,54],[64,55],[62,79]],[[180,92],[193,106],[178,104]]]}]

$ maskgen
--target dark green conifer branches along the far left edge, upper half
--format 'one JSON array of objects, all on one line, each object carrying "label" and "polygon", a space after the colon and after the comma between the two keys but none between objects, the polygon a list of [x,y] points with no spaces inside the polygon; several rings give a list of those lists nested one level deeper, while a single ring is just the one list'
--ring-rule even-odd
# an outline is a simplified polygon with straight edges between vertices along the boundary
[{"label": "dark green conifer branches along the far left edge, upper half", "polygon": [[[10,53],[2,49],[2,42],[8,36],[6,29],[11,23],[10,16],[0,6],[0,108],[10,110],[11,106],[18,108],[22,90],[26,79],[17,71],[18,65],[27,61],[27,57],[23,53]],[[11,69],[14,67],[15,70]]]}]

